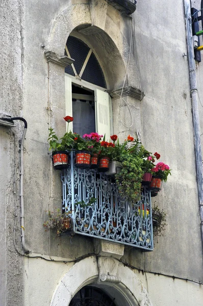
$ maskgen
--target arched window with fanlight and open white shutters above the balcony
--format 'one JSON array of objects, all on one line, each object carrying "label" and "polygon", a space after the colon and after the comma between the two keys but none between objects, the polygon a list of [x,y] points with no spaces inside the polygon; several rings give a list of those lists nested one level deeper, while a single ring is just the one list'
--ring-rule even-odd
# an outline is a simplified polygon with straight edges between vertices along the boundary
[{"label": "arched window with fanlight and open white shutters above the balcony", "polygon": [[109,139],[111,100],[102,67],[91,47],[73,36],[67,39],[65,55],[75,60],[65,68],[66,115],[74,118],[70,129],[81,136],[97,132]]}]

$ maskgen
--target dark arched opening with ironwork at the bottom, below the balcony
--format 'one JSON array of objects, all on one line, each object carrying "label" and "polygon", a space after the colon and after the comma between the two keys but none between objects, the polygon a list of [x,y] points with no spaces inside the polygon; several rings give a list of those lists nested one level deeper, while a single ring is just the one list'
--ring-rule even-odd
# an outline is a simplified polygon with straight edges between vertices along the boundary
[{"label": "dark arched opening with ironwork at the bottom, below the balcony", "polygon": [[70,302],[70,306],[116,306],[115,298],[110,298],[103,290],[92,287],[83,287]]}]

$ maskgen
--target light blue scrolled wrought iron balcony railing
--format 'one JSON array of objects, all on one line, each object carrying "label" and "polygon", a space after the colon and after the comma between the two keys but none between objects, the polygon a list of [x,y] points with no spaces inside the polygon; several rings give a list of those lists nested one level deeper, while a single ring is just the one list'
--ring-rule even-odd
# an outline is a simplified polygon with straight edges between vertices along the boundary
[{"label": "light blue scrolled wrought iron balcony railing", "polygon": [[74,233],[153,250],[151,198],[146,186],[140,201],[128,202],[120,197],[114,177],[75,167],[74,151],[61,181],[63,211],[71,214]]}]

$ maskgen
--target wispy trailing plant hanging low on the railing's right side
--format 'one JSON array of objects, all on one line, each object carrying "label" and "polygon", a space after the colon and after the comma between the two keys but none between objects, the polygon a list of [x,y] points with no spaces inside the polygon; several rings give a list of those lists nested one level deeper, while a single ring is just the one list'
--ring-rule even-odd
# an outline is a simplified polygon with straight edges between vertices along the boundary
[{"label": "wispy trailing plant hanging low on the railing's right side", "polygon": [[152,209],[152,219],[153,219],[153,235],[154,236],[164,236],[163,231],[165,230],[166,224],[166,213],[155,206]]}]

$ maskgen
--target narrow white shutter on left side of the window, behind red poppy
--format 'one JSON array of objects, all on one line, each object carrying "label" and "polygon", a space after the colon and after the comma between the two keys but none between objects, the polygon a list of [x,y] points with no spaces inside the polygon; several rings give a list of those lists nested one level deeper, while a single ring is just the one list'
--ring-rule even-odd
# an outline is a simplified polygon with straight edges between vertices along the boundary
[{"label": "narrow white shutter on left side of the window, behind red poppy", "polygon": [[[72,82],[71,79],[65,74],[65,115],[72,117]],[[72,122],[66,122],[66,131],[72,131]],[[67,131],[67,132],[69,132]]]}]

